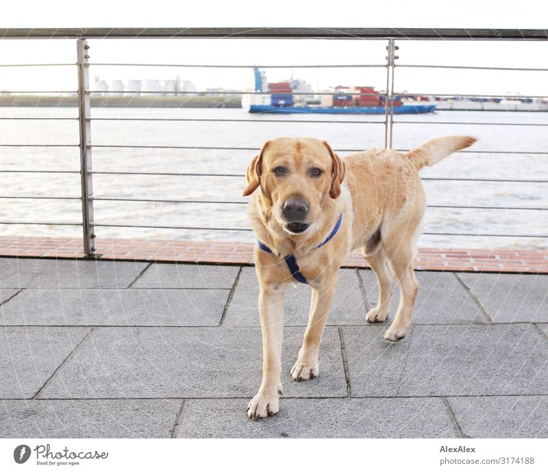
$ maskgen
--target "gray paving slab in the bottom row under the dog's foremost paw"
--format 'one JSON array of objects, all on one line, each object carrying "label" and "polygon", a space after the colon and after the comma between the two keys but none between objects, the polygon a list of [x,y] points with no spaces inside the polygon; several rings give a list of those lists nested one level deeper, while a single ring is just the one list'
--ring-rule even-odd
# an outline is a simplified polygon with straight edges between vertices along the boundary
[{"label": "gray paving slab in the bottom row under the dog's foremost paw", "polygon": [[249,421],[247,401],[188,400],[179,438],[455,438],[440,398],[284,399]]}]

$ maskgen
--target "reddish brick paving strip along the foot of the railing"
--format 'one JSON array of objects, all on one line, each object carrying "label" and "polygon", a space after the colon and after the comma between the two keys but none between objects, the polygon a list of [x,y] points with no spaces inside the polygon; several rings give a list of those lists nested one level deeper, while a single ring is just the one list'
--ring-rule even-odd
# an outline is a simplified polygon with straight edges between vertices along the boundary
[{"label": "reddish brick paving strip along the foot of the railing", "polygon": [[[101,260],[253,264],[253,243],[97,238],[96,245]],[[80,238],[3,236],[0,256],[84,258],[85,254]],[[361,268],[367,264],[360,253],[351,253],[343,266]],[[414,267],[423,271],[548,273],[548,251],[420,247]]]}]

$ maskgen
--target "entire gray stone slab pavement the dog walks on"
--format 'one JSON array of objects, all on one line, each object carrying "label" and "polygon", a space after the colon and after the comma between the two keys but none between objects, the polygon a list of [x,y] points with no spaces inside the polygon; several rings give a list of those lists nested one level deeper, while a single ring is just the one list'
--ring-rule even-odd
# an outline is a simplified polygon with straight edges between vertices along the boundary
[{"label": "entire gray stone slab pavement the dog walks on", "polygon": [[299,383],[310,288],[290,287],[281,410],[251,422],[253,268],[0,258],[0,437],[548,437],[548,275],[416,276],[390,344],[364,321],[374,274],[341,270],[320,375]]}]

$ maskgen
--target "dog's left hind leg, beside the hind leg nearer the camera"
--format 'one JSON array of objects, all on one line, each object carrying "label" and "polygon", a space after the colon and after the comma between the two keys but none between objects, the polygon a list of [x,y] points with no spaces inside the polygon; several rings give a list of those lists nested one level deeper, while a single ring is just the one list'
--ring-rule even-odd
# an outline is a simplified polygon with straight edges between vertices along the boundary
[{"label": "dog's left hind leg, beside the hind leg nearer the camera", "polygon": [[365,318],[369,323],[382,323],[386,320],[386,316],[390,312],[390,297],[392,297],[392,287],[394,284],[394,276],[386,263],[386,252],[381,238],[382,236],[379,236],[377,247],[372,248],[366,245],[362,249],[367,264],[369,264],[377,276],[377,284],[379,285],[379,301],[377,301],[377,306],[369,310]]}]

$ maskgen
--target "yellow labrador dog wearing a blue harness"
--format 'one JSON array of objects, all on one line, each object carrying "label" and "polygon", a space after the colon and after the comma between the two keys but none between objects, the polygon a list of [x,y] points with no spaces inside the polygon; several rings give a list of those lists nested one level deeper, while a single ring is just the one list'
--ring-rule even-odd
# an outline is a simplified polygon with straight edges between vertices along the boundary
[{"label": "yellow labrador dog wearing a blue harness", "polygon": [[314,138],[277,138],[264,144],[249,164],[243,192],[253,194],[249,214],[258,238],[254,256],[263,340],[262,383],[249,402],[249,418],[279,410],[283,300],[290,282],[312,287],[293,380],[319,374],[319,346],[337,272],[354,249],[361,249],[379,284],[379,302],[366,321],[385,321],[395,278],[399,307],[384,338],[397,341],[408,334],[419,288],[412,260],[425,210],[419,170],[474,142],[470,136],[448,136],[408,153],[373,149],[344,159]]}]

